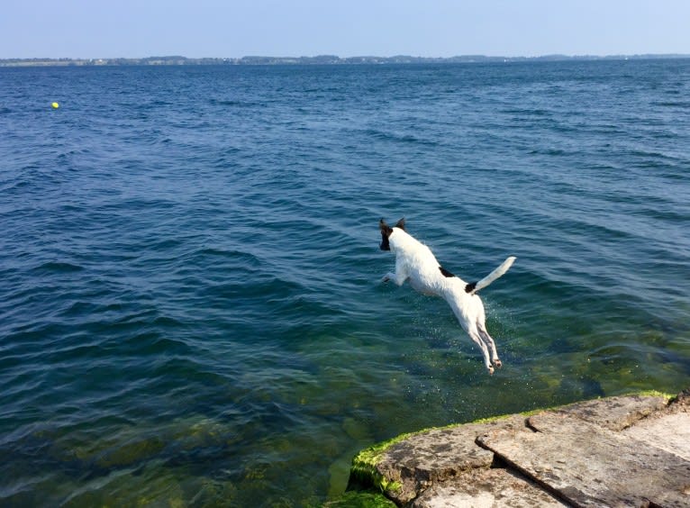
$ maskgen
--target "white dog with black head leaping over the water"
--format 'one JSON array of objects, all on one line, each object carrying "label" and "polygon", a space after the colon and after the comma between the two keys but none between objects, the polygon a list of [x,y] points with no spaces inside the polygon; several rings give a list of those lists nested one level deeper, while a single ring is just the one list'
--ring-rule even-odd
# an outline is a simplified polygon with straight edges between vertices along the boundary
[{"label": "white dog with black head leaping over the water", "polygon": [[504,275],[513,265],[515,258],[505,259],[501,266],[488,276],[468,284],[442,268],[431,249],[404,231],[404,219],[398,221],[394,227],[390,227],[381,219],[379,227],[382,237],[381,250],[390,250],[395,254],[395,274],[386,274],[383,281],[393,280],[398,286],[403,286],[404,281],[409,279],[413,288],[420,293],[445,298],[462,328],[482,350],[489,374],[494,374],[494,366],[501,367],[501,360],[498,359],[494,340],[486,331],[484,304],[477,291]]}]

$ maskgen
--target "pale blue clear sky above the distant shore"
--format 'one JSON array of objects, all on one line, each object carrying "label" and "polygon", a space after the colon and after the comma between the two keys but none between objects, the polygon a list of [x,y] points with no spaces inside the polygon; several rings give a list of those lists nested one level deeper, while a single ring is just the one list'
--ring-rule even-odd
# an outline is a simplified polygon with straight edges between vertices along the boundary
[{"label": "pale blue clear sky above the distant shore", "polygon": [[690,54],[690,0],[0,1],[0,59]]}]

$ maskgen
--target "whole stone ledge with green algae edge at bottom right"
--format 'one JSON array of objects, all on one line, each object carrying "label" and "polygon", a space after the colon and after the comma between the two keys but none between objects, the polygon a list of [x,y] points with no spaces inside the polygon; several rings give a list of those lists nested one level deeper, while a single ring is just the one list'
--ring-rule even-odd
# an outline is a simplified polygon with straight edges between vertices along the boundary
[{"label": "whole stone ledge with green algae edge at bottom right", "polygon": [[625,395],[400,436],[350,489],[399,506],[690,506],[690,390]]}]

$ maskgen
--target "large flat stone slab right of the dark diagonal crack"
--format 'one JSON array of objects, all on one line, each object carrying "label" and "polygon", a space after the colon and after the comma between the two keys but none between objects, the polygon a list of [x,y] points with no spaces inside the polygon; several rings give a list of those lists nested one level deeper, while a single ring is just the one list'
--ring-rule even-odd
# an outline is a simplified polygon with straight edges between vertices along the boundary
[{"label": "large flat stone slab right of the dark diagonal crack", "polygon": [[528,426],[477,441],[577,506],[690,506],[685,458],[567,413],[538,413]]}]

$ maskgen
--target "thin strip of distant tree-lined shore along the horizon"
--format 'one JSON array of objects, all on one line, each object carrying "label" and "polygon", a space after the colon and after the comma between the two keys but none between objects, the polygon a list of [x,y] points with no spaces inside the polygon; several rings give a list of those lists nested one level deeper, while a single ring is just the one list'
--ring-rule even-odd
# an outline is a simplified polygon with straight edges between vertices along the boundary
[{"label": "thin strip of distant tree-lined shore along the horizon", "polygon": [[180,56],[146,57],[142,59],[0,59],[0,67],[101,67],[101,66],[172,66],[172,65],[361,65],[361,64],[449,64],[482,62],[530,62],[571,60],[626,59],[690,59],[690,54],[643,54],[608,56],[544,55],[539,57],[487,57],[463,55],[449,58],[434,57],[347,57],[320,55],[316,57],[241,57],[190,59]]}]

